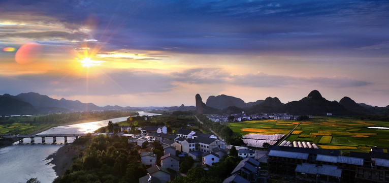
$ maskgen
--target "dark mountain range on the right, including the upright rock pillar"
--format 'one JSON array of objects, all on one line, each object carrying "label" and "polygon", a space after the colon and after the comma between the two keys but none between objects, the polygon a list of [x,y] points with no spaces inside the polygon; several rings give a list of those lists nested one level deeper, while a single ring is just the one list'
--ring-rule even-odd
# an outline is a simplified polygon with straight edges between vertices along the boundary
[{"label": "dark mountain range on the right, including the upright rock pillar", "polygon": [[206,103],[201,101],[201,96],[196,95],[196,108],[198,113],[290,113],[326,115],[365,115],[365,114],[389,114],[389,105],[386,107],[373,107],[364,103],[358,104],[349,97],[343,97],[339,102],[328,101],[323,98],[318,90],[312,90],[307,97],[299,101],[286,104],[280,102],[277,97],[268,97],[265,100],[245,103],[242,99],[219,95],[210,96]]}]

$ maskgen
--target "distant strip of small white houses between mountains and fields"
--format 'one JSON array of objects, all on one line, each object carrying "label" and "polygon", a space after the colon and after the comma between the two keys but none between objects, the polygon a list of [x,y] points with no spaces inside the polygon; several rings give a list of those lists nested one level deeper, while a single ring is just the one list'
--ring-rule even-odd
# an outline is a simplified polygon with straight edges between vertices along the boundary
[{"label": "distant strip of small white houses between mountains and fields", "polygon": [[[208,119],[213,122],[222,123],[229,120],[229,116],[231,115],[208,115]],[[253,115],[246,115],[244,112],[242,114],[233,114],[234,121],[240,122],[245,120],[259,120],[259,119],[283,119],[283,120],[296,120],[300,115],[291,115],[287,113],[276,113],[276,114],[268,114],[268,113],[260,113]],[[312,115],[307,115],[309,118],[312,118]]]}]

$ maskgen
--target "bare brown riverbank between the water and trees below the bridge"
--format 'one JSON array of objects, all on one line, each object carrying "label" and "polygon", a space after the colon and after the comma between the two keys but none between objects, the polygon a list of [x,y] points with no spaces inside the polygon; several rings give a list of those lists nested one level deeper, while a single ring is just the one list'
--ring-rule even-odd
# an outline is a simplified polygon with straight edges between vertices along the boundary
[{"label": "bare brown riverbank between the water and trees below the bridge", "polygon": [[47,157],[46,160],[51,161],[47,164],[53,164],[54,171],[57,176],[62,176],[67,169],[69,169],[73,160],[82,157],[82,153],[85,149],[83,145],[64,145],[60,147],[54,154]]}]

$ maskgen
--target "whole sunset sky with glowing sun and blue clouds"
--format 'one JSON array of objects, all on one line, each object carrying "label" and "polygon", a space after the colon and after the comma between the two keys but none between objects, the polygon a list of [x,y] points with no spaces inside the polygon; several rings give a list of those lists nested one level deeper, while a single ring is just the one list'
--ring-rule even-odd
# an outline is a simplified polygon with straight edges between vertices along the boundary
[{"label": "whole sunset sky with glowing sun and blue clouds", "polygon": [[99,106],[209,96],[389,105],[389,2],[0,1],[0,94]]}]

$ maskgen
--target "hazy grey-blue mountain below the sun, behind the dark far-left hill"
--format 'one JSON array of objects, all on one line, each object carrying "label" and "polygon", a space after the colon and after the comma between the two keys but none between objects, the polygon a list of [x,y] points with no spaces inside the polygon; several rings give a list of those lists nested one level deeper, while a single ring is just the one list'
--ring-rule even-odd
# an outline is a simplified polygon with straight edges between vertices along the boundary
[{"label": "hazy grey-blue mountain below the sun, behind the dark far-left hill", "polygon": [[[38,93],[23,93],[17,95],[24,102],[28,102],[38,109],[45,109],[47,112],[68,112],[68,111],[87,111],[87,110],[101,110],[101,107],[94,105],[93,103],[82,103],[78,100],[66,100],[64,98],[57,100],[50,98],[46,95],[40,95]],[[51,111],[48,111],[52,109]]]}]

